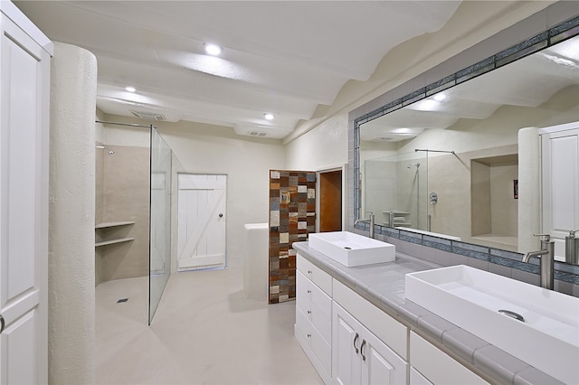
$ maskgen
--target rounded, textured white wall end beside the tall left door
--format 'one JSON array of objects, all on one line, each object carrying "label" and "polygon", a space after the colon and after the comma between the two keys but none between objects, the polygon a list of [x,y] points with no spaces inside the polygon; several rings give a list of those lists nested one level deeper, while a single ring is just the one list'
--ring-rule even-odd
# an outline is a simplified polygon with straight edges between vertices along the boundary
[{"label": "rounded, textured white wall end beside the tall left door", "polygon": [[49,383],[92,384],[97,61],[55,43],[51,72]]}]

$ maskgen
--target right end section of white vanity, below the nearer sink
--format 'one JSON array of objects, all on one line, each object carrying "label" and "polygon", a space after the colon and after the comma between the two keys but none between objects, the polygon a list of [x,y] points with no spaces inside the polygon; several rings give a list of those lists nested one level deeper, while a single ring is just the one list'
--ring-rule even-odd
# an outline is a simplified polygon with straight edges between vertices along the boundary
[{"label": "right end section of white vanity, below the nearer sink", "polygon": [[420,335],[410,333],[410,383],[488,384]]}]

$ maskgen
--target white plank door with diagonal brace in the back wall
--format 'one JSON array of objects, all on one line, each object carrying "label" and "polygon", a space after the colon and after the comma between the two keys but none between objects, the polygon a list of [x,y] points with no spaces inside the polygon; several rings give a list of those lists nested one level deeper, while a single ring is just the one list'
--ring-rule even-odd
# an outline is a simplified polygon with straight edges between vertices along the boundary
[{"label": "white plank door with diagonal brace in the back wall", "polygon": [[178,174],[177,270],[225,266],[226,175]]}]

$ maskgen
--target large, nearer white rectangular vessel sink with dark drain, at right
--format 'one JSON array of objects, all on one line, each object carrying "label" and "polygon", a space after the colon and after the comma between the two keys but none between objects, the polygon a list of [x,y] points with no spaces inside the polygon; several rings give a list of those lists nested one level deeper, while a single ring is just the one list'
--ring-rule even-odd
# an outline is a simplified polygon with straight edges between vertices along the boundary
[{"label": "large, nearer white rectangular vessel sink with dark drain, at right", "polygon": [[405,283],[406,299],[557,380],[579,383],[579,298],[463,265],[409,273]]}]

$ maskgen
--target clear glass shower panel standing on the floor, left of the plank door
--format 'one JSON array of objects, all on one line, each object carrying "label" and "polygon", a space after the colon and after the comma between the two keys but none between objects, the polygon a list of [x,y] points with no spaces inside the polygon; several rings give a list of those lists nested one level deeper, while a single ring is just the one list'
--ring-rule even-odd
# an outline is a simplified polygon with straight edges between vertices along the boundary
[{"label": "clear glass shower panel standing on the floor, left of the plank door", "polygon": [[151,127],[148,324],[171,272],[171,148]]}]

